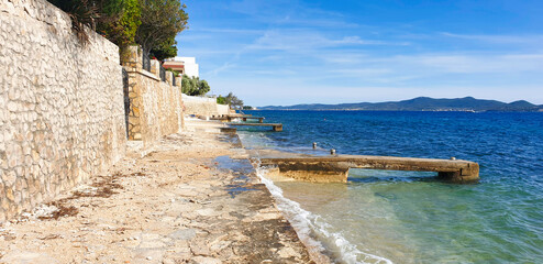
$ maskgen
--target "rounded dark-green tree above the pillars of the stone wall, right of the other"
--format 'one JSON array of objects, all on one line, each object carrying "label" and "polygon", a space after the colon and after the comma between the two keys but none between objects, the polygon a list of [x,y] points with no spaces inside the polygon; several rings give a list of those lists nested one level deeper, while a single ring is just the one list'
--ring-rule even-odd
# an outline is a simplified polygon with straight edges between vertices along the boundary
[{"label": "rounded dark-green tree above the pillars of the stone wall, right of the other", "polygon": [[[148,55],[153,48],[167,45],[187,28],[188,14],[179,0],[140,0],[142,24],[135,41]],[[165,44],[166,43],[166,44]]]}]

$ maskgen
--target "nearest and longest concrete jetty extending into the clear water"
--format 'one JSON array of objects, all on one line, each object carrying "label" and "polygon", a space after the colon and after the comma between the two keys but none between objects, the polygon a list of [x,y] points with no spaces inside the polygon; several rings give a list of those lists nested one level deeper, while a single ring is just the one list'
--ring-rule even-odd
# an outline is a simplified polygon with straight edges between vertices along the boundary
[{"label": "nearest and longest concrete jetty extending into the clear water", "polygon": [[461,160],[434,160],[392,156],[300,156],[261,157],[262,165],[274,165],[280,176],[309,182],[345,183],[350,168],[436,172],[437,177],[452,183],[474,183],[479,179],[479,165]]}]

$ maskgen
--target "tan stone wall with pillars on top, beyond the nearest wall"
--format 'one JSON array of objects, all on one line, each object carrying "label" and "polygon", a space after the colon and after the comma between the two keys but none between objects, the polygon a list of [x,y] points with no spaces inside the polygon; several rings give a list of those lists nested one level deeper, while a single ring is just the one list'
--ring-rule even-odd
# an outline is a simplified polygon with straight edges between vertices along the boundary
[{"label": "tan stone wall with pillars on top, beyond the nearest wall", "polygon": [[164,135],[181,129],[181,87],[173,85],[173,73],[166,81],[159,76],[159,64],[151,61],[151,72],[142,67],[142,51],[130,47],[130,59],[124,65],[129,74],[129,140],[143,141],[145,150]]}]

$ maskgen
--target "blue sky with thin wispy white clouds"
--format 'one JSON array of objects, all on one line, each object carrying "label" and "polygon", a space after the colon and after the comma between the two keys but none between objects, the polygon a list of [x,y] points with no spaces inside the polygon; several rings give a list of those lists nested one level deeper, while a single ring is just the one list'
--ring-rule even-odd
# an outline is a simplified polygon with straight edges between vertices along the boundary
[{"label": "blue sky with thin wispy white clouds", "polygon": [[541,0],[187,0],[178,55],[245,105],[543,103]]}]

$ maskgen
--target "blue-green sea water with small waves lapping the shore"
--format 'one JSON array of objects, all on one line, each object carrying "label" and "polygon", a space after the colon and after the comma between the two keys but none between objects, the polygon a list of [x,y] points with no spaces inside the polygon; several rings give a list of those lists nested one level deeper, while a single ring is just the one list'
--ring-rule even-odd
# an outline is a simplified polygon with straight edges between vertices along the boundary
[{"label": "blue-green sea water with small waves lapping the shore", "polygon": [[334,262],[543,263],[543,113],[248,113],[285,130],[239,129],[246,147],[479,163],[473,185],[365,169],[346,184],[274,183],[259,169],[300,237]]}]

